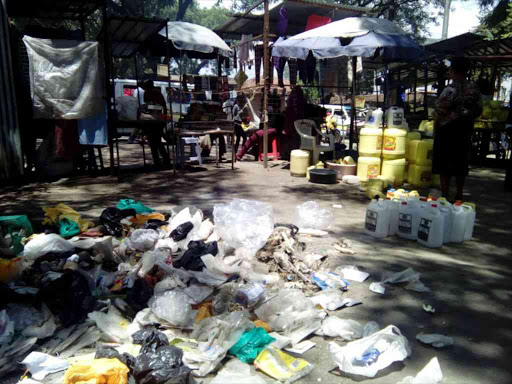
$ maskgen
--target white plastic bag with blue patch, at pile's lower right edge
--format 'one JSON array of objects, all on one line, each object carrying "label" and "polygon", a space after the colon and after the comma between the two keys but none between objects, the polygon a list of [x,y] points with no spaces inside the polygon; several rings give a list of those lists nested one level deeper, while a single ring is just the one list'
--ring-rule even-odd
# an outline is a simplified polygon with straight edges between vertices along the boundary
[{"label": "white plastic bag with blue patch, at pile's lower right edge", "polygon": [[341,371],[375,377],[381,369],[410,356],[411,349],[400,330],[394,325],[389,325],[379,332],[352,341],[343,347],[330,342],[329,352]]}]

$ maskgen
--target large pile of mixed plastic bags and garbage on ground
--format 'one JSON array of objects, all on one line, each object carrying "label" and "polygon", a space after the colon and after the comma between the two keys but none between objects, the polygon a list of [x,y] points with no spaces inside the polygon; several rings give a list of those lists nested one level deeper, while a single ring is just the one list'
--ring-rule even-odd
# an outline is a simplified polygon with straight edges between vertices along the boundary
[{"label": "large pile of mixed plastic bags and garbage on ground", "polygon": [[[314,368],[297,357],[313,334],[349,341],[329,351],[350,374],[374,377],[411,354],[397,327],[331,312],[360,303],[344,297],[347,280],[368,274],[331,271],[326,255],[306,251],[301,236],[322,236],[332,221],[314,202],[297,208],[298,226],[238,199],[216,205],[213,221],[133,200],[106,208],[98,225],[64,204],[44,210],[45,233],[26,216],[0,218],[0,377],[21,368],[20,383],[293,382]],[[422,288],[411,271],[378,284],[403,281]],[[449,345],[435,336],[422,337]],[[436,362],[422,383],[440,382]]]}]

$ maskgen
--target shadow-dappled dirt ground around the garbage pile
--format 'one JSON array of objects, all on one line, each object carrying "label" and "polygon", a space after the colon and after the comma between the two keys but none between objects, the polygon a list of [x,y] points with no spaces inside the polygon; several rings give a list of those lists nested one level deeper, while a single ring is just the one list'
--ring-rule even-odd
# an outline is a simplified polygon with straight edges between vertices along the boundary
[{"label": "shadow-dappled dirt ground around the garbage pile", "polygon": [[[134,147],[122,148],[122,154],[132,152],[126,156],[127,166],[142,164],[140,148]],[[108,159],[106,152],[104,158]],[[503,191],[504,172],[471,170],[465,200],[477,205],[473,241],[432,250],[398,238],[377,240],[364,235],[368,200],[358,188],[311,184],[305,178],[291,177],[284,162],[269,164],[265,170],[260,163],[244,161],[237,163],[234,171],[228,163],[218,168],[208,164],[176,176],[173,171],[144,173],[125,168],[119,178],[82,176],[4,187],[0,190],[0,214],[27,214],[33,223],[40,223],[43,206],[63,202],[97,219],[105,207],[130,197],[156,210],[194,205],[211,215],[215,204],[244,198],[271,203],[276,222],[293,222],[298,204],[316,200],[335,214],[329,237],[316,246],[329,249],[334,240],[349,238],[356,254],[331,260],[332,265],[356,265],[370,273],[364,283],[352,283],[346,293],[347,297],[361,300],[362,305],[342,309],[336,315],[362,323],[374,320],[381,328],[396,325],[408,338],[412,355],[379,372],[374,379],[350,377],[332,371],[335,364],[327,350],[332,340],[313,337],[316,346],[302,357],[315,364],[315,369],[301,382],[395,384],[414,376],[434,356],[443,370],[443,383],[512,382],[512,194]],[[334,208],[333,204],[341,204],[342,208]],[[408,267],[421,273],[421,280],[432,292],[389,287],[384,295],[378,295],[368,289],[372,281],[380,281],[382,272]],[[436,313],[424,312],[425,303],[432,305]],[[415,339],[421,332],[451,336],[454,346],[425,346]]]}]

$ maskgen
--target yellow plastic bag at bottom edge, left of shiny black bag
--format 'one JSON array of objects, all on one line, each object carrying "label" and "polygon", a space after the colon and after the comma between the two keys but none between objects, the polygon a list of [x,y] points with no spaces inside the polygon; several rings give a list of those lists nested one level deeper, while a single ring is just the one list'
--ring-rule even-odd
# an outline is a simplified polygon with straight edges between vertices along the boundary
[{"label": "yellow plastic bag at bottom edge, left of shiny black bag", "polygon": [[96,359],[74,364],[64,375],[64,384],[128,384],[130,370],[118,359]]}]

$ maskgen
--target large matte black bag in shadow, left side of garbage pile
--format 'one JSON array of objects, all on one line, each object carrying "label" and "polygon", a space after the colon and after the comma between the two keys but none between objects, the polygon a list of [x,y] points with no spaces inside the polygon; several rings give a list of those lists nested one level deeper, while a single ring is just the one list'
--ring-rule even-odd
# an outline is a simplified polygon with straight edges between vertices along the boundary
[{"label": "large matte black bag in shadow, left side of garbage pile", "polygon": [[89,282],[77,271],[50,281],[40,289],[39,298],[65,327],[85,320],[96,304]]}]

